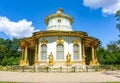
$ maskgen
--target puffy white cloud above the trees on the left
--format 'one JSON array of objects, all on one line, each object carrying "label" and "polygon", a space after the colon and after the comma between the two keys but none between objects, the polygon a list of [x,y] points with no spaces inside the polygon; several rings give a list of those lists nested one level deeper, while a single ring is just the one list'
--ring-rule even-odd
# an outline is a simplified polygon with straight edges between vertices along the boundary
[{"label": "puffy white cloud above the trees on the left", "polygon": [[12,22],[8,18],[0,16],[0,32],[4,32],[12,38],[30,37],[35,31],[38,30],[35,30],[31,21],[23,19],[18,22]]}]

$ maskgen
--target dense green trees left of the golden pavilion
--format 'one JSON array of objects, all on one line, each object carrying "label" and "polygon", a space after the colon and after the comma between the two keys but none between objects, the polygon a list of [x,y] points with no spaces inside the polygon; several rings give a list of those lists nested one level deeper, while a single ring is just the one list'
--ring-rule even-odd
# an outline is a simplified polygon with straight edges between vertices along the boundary
[{"label": "dense green trees left of the golden pavilion", "polygon": [[19,64],[20,54],[20,39],[0,38],[0,65]]}]

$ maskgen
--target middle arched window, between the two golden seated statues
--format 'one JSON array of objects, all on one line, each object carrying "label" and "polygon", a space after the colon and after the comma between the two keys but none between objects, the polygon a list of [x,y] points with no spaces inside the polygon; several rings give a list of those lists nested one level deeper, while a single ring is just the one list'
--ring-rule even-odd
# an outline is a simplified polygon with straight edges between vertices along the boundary
[{"label": "middle arched window, between the two golden seated statues", "polygon": [[56,55],[57,60],[64,60],[64,47],[62,44],[57,45],[57,55]]}]

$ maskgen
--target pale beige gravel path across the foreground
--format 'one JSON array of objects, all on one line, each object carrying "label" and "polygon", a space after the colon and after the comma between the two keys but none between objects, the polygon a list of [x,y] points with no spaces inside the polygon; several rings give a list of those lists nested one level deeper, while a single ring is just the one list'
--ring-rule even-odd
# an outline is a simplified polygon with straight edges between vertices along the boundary
[{"label": "pale beige gravel path across the foreground", "polygon": [[0,81],[32,83],[120,82],[120,71],[41,73],[0,71]]}]

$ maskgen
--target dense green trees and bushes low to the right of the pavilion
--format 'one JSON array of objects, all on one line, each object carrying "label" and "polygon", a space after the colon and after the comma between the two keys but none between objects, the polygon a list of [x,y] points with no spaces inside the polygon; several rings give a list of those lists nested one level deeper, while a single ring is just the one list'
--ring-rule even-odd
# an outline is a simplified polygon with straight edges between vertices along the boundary
[{"label": "dense green trees and bushes low to the right of the pavilion", "polygon": [[106,47],[97,49],[100,64],[120,64],[120,47],[118,42],[110,42]]}]

